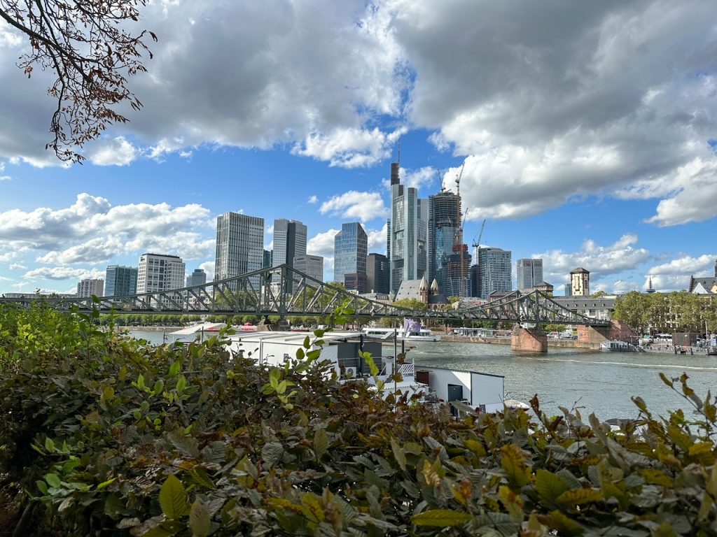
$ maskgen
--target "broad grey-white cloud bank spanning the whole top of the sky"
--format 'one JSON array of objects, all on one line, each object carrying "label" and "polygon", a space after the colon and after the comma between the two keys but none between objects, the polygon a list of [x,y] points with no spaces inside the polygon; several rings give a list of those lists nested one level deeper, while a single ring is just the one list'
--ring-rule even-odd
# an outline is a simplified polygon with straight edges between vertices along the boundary
[{"label": "broad grey-white cloud bank spanning the whole top of the sky", "polygon": [[[161,39],[130,81],[145,107],[87,155],[290,147],[359,168],[412,130],[465,161],[464,205],[484,218],[599,195],[654,200],[655,226],[705,221],[717,215],[715,19],[704,0],[150,3],[143,24]],[[24,43],[0,34],[13,103],[0,158],[57,165],[43,150],[49,74],[16,69]]]}]

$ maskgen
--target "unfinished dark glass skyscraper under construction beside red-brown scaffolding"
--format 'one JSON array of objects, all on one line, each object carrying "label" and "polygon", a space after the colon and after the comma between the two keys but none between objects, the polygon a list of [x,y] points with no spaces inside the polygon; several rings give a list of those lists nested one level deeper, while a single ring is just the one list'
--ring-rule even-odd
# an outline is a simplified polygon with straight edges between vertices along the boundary
[{"label": "unfinished dark glass skyscraper under construction beside red-brown scaffolding", "polygon": [[428,278],[446,296],[470,296],[468,247],[462,243],[460,195],[450,191],[428,198]]}]

